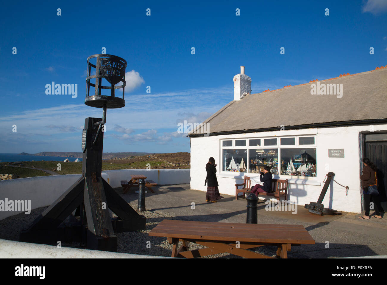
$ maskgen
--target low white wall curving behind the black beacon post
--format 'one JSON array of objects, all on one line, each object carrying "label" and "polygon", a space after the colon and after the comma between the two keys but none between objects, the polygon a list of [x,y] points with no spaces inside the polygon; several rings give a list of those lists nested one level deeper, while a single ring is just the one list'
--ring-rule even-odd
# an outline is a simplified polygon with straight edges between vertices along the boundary
[{"label": "low white wall curving behind the black beacon post", "polygon": [[[190,169],[123,169],[102,172],[102,178],[113,187],[120,180],[130,180],[130,174],[144,174],[159,185],[189,184]],[[80,174],[39,176],[0,181],[0,200],[29,200],[31,209],[51,205],[79,178]],[[0,220],[24,211],[0,211]]]}]

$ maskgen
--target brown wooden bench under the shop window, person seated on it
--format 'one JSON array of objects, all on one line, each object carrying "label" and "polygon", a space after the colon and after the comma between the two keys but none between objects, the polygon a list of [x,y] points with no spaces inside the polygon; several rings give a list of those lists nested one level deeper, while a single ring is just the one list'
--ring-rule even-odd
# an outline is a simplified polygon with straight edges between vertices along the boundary
[{"label": "brown wooden bench under the shop window, person seated on it", "polygon": [[[243,188],[238,189],[239,186],[243,186]],[[246,193],[250,193],[251,188],[250,177],[245,176],[243,184],[235,184],[235,200],[238,200],[238,193],[240,192],[243,192],[243,198],[246,198]],[[277,200],[281,200],[281,198],[284,198],[283,200],[288,200],[288,179],[272,179],[271,188],[274,192],[260,192],[258,193],[258,196],[271,196],[275,197]]]}]

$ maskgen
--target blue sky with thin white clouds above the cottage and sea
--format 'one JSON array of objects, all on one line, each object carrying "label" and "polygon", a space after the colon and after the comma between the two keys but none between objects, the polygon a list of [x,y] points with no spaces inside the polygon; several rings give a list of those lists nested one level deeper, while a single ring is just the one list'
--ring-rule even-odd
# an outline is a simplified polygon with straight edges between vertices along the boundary
[{"label": "blue sky with thin white clouds above the cottage and sea", "polygon": [[[111,3],[2,4],[1,152],[81,151],[84,119],[102,116],[84,104],[86,59],[102,47],[128,62],[126,106],[108,109],[104,152],[189,152],[177,124],[233,100],[241,65],[259,93],[387,64],[386,0]],[[77,84],[77,97],[46,95],[52,81]]]}]

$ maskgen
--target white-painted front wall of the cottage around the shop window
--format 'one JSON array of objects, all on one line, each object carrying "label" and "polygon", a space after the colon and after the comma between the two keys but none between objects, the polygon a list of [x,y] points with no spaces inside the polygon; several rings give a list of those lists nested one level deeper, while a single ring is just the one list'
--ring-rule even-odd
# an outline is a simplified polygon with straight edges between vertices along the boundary
[{"label": "white-painted front wall of the cottage around the shop window", "polygon": [[[323,200],[324,207],[346,212],[361,212],[361,131],[369,131],[370,126],[349,126],[340,128],[311,128],[304,130],[284,130],[262,133],[245,133],[236,135],[207,136],[191,138],[191,189],[207,191],[204,186],[205,164],[209,157],[214,157],[217,166],[219,192],[235,195],[235,184],[243,183],[243,176],[248,175],[259,181],[256,173],[237,173],[220,171],[221,145],[224,138],[254,138],[269,136],[316,135],[317,177],[301,177],[274,175],[276,179],[289,180],[289,200],[298,205],[317,202],[324,185],[324,177],[329,171],[336,175],[334,179],[348,186],[348,196],[345,188],[332,182]],[[387,124],[373,126],[374,131],[387,130]],[[328,149],[344,149],[344,158],[328,157]]]}]

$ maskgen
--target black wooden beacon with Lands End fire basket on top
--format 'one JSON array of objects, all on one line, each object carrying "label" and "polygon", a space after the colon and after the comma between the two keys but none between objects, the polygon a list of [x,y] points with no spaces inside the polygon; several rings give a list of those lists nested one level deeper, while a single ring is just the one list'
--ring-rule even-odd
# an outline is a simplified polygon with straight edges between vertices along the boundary
[{"label": "black wooden beacon with Lands End fire basket on top", "polygon": [[[97,57],[97,64],[89,59]],[[121,60],[121,75],[118,78],[123,85],[114,86],[117,74],[101,71],[99,65],[103,57],[110,60]],[[102,59],[101,59],[102,58]],[[57,244],[57,242],[82,241],[88,249],[117,251],[117,236],[123,231],[145,230],[146,219],[138,214],[101,176],[103,131],[101,126],[106,122],[106,108],[125,106],[123,98],[114,96],[115,88],[125,87],[126,61],[113,55],[92,55],[87,59],[89,76],[85,104],[103,108],[103,118],[88,117],[82,132],[82,177],[67,189],[51,206],[49,206],[27,230],[20,232],[21,242]],[[99,75],[91,75],[91,67],[96,67]],[[101,68],[102,69],[102,68]],[[106,67],[105,67],[106,69]],[[111,78],[113,77],[113,78]],[[96,84],[90,79],[96,78]],[[101,96],[101,79],[112,81],[113,96]],[[89,85],[96,88],[96,95],[89,96]],[[104,86],[102,86],[104,87]],[[105,87],[105,89],[107,89]],[[111,218],[109,209],[118,218]],[[68,219],[67,219],[68,218]]]}]

